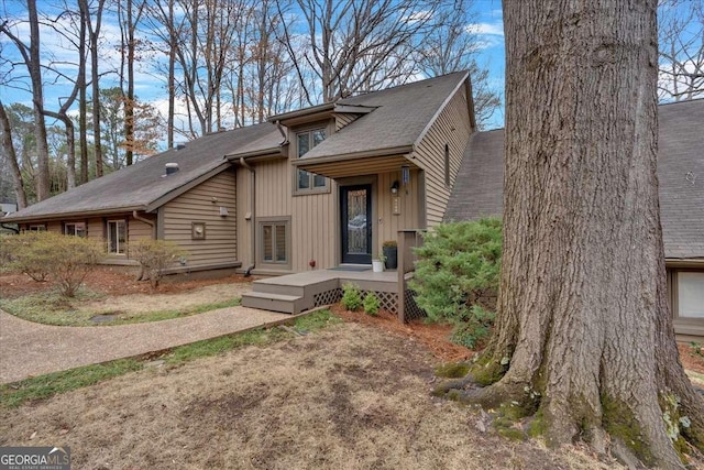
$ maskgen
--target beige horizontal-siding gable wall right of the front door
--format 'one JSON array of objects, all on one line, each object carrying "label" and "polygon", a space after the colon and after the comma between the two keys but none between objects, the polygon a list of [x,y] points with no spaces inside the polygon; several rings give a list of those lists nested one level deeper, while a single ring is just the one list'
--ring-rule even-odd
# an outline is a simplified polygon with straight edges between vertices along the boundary
[{"label": "beige horizontal-siding gable wall right of the front door", "polygon": [[[471,133],[464,88],[461,87],[428,130],[416,150],[416,163],[426,175],[426,217],[428,227],[440,223],[450,199],[462,153]],[[450,185],[444,181],[444,145],[450,147]]]}]

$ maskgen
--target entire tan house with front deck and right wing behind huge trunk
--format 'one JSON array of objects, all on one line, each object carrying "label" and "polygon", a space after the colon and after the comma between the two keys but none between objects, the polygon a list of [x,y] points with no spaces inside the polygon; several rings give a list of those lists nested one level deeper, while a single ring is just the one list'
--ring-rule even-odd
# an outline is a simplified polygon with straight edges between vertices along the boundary
[{"label": "entire tan house with front deck and right wing behind huge trunk", "polygon": [[[0,219],[21,230],[130,242],[172,240],[174,272],[264,276],[243,305],[298,313],[340,298],[343,282],[406,318],[408,244],[443,220],[501,216],[504,131],[476,132],[466,73],[273,116],[168,150]],[[704,100],[663,105],[660,204],[668,285],[681,338],[704,336]],[[386,240],[399,270],[372,273]]]}]

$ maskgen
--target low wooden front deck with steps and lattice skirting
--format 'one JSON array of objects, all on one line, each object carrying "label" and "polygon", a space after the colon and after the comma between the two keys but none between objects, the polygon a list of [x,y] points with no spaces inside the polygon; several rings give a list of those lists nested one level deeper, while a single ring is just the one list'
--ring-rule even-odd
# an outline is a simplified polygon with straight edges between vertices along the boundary
[{"label": "low wooden front deck with steps and lattice skirting", "polygon": [[310,308],[340,302],[342,287],[352,283],[362,292],[374,292],[382,307],[397,313],[398,273],[385,271],[334,270],[307,271],[254,281],[252,292],[242,296],[244,307],[299,314]]}]

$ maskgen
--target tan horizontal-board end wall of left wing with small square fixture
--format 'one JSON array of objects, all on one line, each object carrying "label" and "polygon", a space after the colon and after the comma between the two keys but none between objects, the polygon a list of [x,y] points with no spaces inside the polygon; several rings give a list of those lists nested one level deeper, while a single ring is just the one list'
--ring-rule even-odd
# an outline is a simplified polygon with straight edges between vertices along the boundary
[{"label": "tan horizontal-board end wall of left wing with small square fixture", "polygon": [[[228,168],[163,206],[162,237],[187,251],[188,265],[238,261],[235,185],[234,170]],[[205,239],[193,239],[194,222],[206,225]]]}]

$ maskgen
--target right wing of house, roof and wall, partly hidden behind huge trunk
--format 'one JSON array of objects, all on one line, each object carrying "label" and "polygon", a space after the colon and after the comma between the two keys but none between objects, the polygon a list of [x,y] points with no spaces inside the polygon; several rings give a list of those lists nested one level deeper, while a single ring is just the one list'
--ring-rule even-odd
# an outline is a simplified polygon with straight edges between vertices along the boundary
[{"label": "right wing of house, roof and wall, partly hidden behind huge trunk", "polygon": [[[658,108],[660,216],[678,339],[704,336],[704,99]],[[474,133],[446,220],[502,215],[504,130]]]}]

